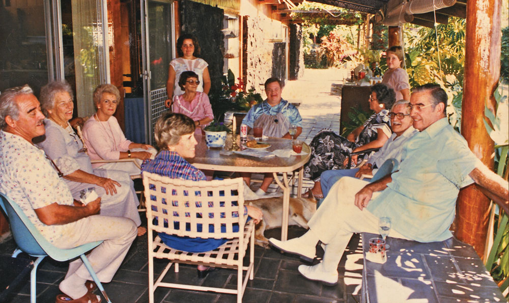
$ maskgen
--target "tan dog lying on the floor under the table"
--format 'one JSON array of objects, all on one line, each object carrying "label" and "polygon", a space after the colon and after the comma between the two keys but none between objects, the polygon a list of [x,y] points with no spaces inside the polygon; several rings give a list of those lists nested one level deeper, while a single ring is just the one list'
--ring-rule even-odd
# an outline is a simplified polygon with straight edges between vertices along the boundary
[{"label": "tan dog lying on the floor under the table", "polygon": [[[263,220],[254,230],[254,243],[267,248],[269,239],[264,236],[264,232],[266,229],[281,227],[283,198],[252,200],[249,204],[259,207],[263,213]],[[317,201],[308,198],[290,198],[289,210],[288,225],[298,225],[308,229],[307,222],[317,210]]]}]

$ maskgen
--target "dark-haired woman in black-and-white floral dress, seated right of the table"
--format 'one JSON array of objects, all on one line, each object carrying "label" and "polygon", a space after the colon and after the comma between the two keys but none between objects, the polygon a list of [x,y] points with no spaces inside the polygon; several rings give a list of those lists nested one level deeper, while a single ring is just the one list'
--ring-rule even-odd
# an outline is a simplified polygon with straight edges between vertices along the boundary
[{"label": "dark-haired woman in black-and-white floral dress, seated right of the table", "polygon": [[[348,155],[351,152],[382,147],[391,134],[388,109],[395,101],[394,90],[385,84],[371,87],[370,108],[375,112],[362,126],[354,129],[346,138],[330,129],[322,129],[310,143],[311,157],[304,165],[304,177],[315,181],[313,189],[307,196],[323,198],[320,187],[320,175],[326,170],[344,169],[347,167]],[[357,162],[367,155],[352,156]]]}]

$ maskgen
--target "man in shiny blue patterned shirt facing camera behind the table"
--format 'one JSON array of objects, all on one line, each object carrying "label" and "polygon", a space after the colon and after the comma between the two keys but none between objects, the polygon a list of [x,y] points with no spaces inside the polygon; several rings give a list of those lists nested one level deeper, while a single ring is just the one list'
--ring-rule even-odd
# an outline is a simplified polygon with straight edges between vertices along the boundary
[{"label": "man in shiny blue patterned shirt facing camera behind the table", "polygon": [[[262,103],[256,104],[242,120],[242,124],[247,125],[247,131],[251,133],[254,127],[262,127],[263,135],[268,137],[283,137],[286,139],[295,139],[302,132],[302,118],[298,109],[281,98],[283,85],[278,78],[268,78],[265,81],[265,93],[267,99]],[[296,126],[297,132],[292,136],[288,132],[290,126]],[[244,182],[249,186],[251,174],[242,173]],[[272,173],[265,174],[262,185],[256,191],[256,194],[264,198],[281,196],[280,192],[267,192],[270,183],[274,180]]]}]

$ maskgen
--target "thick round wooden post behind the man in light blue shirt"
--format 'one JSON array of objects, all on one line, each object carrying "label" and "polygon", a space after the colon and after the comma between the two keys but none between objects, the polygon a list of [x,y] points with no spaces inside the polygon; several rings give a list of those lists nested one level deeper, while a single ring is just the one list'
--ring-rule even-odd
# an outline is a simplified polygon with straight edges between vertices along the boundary
[{"label": "thick round wooden post behind the man in light blue shirt", "polygon": [[[485,105],[495,112],[493,92],[500,76],[501,6],[501,0],[467,3],[461,133],[473,153],[490,169],[494,144],[483,120]],[[480,257],[485,251],[489,205],[490,200],[476,186],[462,189],[456,205],[456,237],[471,244]]]}]

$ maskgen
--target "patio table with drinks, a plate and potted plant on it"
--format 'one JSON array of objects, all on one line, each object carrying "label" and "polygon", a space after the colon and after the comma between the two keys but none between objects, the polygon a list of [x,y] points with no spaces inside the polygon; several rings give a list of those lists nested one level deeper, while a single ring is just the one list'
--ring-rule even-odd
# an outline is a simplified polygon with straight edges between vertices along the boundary
[{"label": "patio table with drinks, a plate and potted plant on it", "polygon": [[[237,138],[238,139],[238,138]],[[283,210],[281,218],[281,240],[287,240],[288,236],[288,213],[290,205],[290,179],[288,173],[299,170],[297,196],[300,197],[302,190],[302,172],[304,164],[309,160],[310,149],[307,144],[303,144],[300,155],[290,157],[267,157],[257,158],[239,154],[225,155],[220,149],[209,149],[203,136],[196,136],[196,155],[188,159],[193,166],[201,170],[213,170],[224,172],[239,173],[273,173],[274,179],[283,190]],[[282,138],[264,139],[263,143],[271,146],[267,151],[277,149],[292,149],[292,141]],[[239,144],[240,145],[240,144]],[[283,178],[279,180],[277,173],[282,173]]]}]

